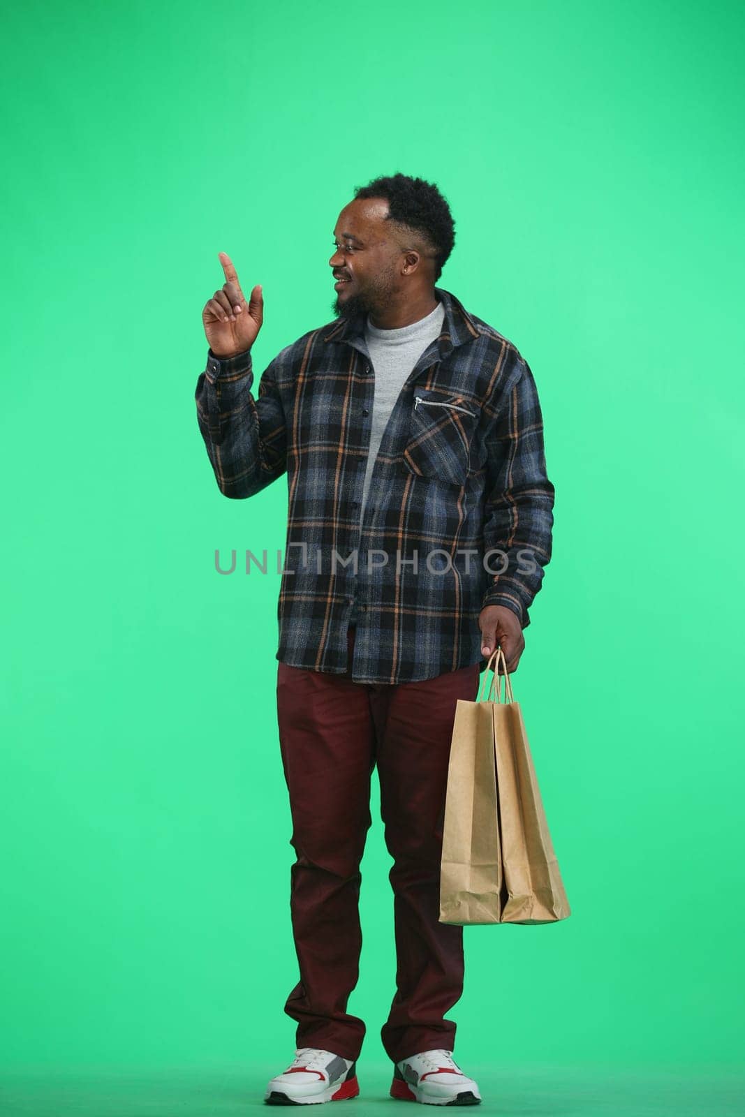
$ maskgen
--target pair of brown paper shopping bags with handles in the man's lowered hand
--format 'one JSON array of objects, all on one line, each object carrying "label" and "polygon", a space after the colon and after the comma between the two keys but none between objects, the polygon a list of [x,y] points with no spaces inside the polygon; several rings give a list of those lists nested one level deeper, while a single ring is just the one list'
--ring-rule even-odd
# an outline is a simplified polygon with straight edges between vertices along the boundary
[{"label": "pair of brown paper shopping bags with handles in the man's lowered hand", "polygon": [[[494,674],[484,699],[489,668]],[[495,681],[496,700],[489,697]],[[439,922],[539,924],[570,914],[523,714],[513,696],[504,651],[497,648],[478,700],[456,703]]]}]

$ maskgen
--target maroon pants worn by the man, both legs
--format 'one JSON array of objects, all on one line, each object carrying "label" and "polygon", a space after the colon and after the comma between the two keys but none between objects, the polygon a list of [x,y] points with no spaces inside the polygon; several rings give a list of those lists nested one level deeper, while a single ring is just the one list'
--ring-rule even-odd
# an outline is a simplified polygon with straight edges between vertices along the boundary
[{"label": "maroon pants worn by the man, both legs", "polygon": [[[348,630],[348,652],[354,628]],[[351,663],[351,658],[348,660]],[[440,858],[456,699],[475,701],[479,665],[422,682],[353,682],[278,665],[277,712],[293,820],[290,915],[300,980],[285,1012],[296,1046],[356,1059],[365,1024],[346,1012],[359,978],[360,861],[378,765],[395,919],[397,992],[381,1029],[398,1062],[455,1049],[443,1015],[462,994],[462,927],[439,923]]]}]

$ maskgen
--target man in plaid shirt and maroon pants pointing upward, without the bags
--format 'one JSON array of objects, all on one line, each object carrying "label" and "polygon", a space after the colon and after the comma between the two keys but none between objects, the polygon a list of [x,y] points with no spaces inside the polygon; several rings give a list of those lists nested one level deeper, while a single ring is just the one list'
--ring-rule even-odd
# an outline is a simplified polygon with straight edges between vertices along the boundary
[{"label": "man in plaid shirt and maroon pants pointing upward, without the bags", "polygon": [[439,922],[450,737],[457,699],[477,698],[497,645],[517,668],[554,488],[527,362],[436,286],[453,242],[436,185],[394,174],[357,188],[334,227],[334,321],[284,349],[256,397],[261,286],[247,302],[225,252],[226,281],[202,313],[195,399],[220,491],[288,483],[277,713],[300,981],[285,1004],[298,1047],[270,1104],[360,1092],[365,1024],[346,1004],[375,765],[393,858],[391,1095],[480,1101],[443,1019],[464,978],[462,927]]}]

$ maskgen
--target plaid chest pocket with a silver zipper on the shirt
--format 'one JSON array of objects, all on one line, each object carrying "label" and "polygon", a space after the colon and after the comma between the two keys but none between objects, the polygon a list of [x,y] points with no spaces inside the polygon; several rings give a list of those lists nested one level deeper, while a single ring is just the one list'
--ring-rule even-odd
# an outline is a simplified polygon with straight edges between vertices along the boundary
[{"label": "plaid chest pocket with a silver zipper on the shirt", "polygon": [[465,485],[478,404],[453,392],[414,385],[403,462],[418,477]]}]

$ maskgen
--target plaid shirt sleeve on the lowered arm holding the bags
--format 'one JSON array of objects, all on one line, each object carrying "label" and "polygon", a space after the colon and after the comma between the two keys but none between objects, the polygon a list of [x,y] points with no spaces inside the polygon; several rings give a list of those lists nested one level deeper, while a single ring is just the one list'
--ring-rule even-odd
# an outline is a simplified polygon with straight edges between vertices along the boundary
[{"label": "plaid shirt sleeve on the lowered arm holding the bags", "polygon": [[487,447],[484,558],[490,572],[500,573],[489,573],[481,608],[506,605],[525,629],[543,567],[551,561],[555,494],[546,475],[538,393],[529,365],[522,359]]}]

